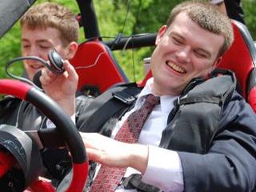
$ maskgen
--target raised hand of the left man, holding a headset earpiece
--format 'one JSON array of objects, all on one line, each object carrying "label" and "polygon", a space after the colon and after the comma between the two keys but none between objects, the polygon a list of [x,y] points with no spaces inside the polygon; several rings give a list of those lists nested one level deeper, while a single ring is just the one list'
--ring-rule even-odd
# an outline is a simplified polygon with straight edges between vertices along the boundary
[{"label": "raised hand of the left man, holding a headset earpiece", "polygon": [[65,72],[58,75],[46,68],[42,69],[40,82],[45,93],[58,102],[67,114],[72,115],[75,109],[74,100],[78,86],[78,74],[67,60],[64,61],[64,68]]}]

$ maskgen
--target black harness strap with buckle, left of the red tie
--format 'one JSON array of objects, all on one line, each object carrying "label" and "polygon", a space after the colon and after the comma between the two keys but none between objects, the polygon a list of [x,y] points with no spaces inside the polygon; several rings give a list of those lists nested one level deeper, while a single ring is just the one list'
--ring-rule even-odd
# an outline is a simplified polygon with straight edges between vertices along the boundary
[{"label": "black harness strap with buckle, left of the red tie", "polygon": [[130,107],[137,98],[141,88],[135,83],[114,86],[95,98],[82,115],[80,130],[84,132],[99,132],[102,126],[118,112]]}]

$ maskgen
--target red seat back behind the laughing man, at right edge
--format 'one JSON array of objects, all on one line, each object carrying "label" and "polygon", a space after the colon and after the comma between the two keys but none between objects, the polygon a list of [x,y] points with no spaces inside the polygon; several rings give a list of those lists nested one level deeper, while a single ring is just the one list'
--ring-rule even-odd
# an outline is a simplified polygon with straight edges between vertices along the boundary
[{"label": "red seat back behind the laughing man, at right edge", "polygon": [[218,68],[234,71],[242,96],[256,112],[256,48],[245,25],[232,20],[232,26],[234,42],[223,55]]}]

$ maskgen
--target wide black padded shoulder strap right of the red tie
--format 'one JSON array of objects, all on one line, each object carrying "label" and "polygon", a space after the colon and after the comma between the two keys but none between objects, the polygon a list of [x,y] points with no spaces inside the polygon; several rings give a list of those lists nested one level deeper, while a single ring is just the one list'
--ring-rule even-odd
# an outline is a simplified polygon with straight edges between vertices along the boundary
[{"label": "wide black padded shoulder strap right of the red tie", "polygon": [[218,131],[222,110],[235,90],[233,74],[210,78],[174,103],[160,146],[206,154]]}]

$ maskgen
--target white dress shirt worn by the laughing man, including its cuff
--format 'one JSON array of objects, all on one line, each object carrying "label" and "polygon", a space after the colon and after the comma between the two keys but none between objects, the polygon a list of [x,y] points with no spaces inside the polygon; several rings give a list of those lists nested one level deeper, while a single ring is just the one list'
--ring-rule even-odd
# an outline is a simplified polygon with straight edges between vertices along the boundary
[{"label": "white dress shirt worn by the laughing man, including its cuff", "polygon": [[[146,86],[142,92],[138,95],[138,99],[135,102],[134,108],[127,112],[114,127],[111,137],[117,134],[118,130],[122,126],[122,123],[126,118],[138,110],[142,106],[145,96],[147,94],[154,94],[152,92],[152,84],[154,78],[150,78],[146,82]],[[178,153],[173,150],[166,150],[157,147],[162,137],[162,130],[166,128],[167,118],[170,111],[174,107],[174,100],[177,96],[163,95],[160,97],[160,104],[154,107],[150,116],[147,118],[144,126],[142,127],[141,134],[138,138],[138,143],[149,146],[149,162],[146,168],[146,172],[142,175],[142,182],[148,183],[153,186],[157,186],[162,191],[183,191],[183,176],[182,165]],[[134,170],[128,167],[125,177],[129,177],[130,174],[139,173],[138,170]],[[137,191],[137,190],[116,190],[121,191]]]}]

